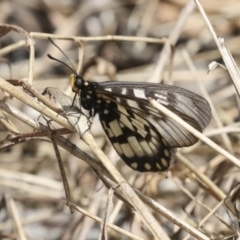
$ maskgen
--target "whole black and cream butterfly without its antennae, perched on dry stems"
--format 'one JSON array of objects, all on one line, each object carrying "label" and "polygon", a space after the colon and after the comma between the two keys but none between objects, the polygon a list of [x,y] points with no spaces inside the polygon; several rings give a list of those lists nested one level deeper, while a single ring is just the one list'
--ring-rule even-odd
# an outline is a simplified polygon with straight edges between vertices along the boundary
[{"label": "whole black and cream butterfly without its antennae, perched on dry stems", "polygon": [[161,115],[148,98],[154,98],[194,128],[202,131],[211,117],[208,102],[188,90],[157,83],[88,82],[71,77],[81,106],[99,114],[102,127],[125,163],[140,172],[165,171],[176,148],[198,139],[174,120]]}]

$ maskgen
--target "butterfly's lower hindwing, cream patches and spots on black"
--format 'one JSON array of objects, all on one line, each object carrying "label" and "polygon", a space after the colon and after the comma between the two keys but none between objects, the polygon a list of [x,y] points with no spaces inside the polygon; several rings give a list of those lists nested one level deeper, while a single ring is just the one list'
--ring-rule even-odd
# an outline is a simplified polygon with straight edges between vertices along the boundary
[{"label": "butterfly's lower hindwing, cream patches and spots on black", "polygon": [[113,147],[128,166],[140,172],[169,168],[176,149],[167,146],[158,130],[144,118],[110,100],[104,102],[99,118]]}]

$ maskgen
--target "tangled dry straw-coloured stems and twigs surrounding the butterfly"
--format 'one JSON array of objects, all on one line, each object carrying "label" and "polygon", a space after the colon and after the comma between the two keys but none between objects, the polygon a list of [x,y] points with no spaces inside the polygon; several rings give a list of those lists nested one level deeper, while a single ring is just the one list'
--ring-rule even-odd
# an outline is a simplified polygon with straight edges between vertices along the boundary
[{"label": "tangled dry straw-coloured stems and twigs surrounding the butterfly", "polygon": [[[238,239],[239,1],[79,2],[0,2],[0,239]],[[71,95],[48,37],[86,79],[204,96],[212,119],[200,141],[168,172],[138,173],[98,118],[80,140],[41,95]]]}]

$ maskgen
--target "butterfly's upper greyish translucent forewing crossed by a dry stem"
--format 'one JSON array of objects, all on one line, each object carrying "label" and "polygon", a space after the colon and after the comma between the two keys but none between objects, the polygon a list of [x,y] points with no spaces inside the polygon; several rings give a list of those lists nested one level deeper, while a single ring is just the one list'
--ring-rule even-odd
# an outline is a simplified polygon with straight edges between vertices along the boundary
[{"label": "butterfly's upper greyish translucent forewing crossed by a dry stem", "polygon": [[[122,105],[136,116],[141,116],[148,125],[153,126],[169,147],[191,146],[198,139],[173,119],[154,109],[148,97],[154,98],[198,131],[202,131],[211,118],[208,102],[188,90],[154,83],[103,82],[98,92],[103,98],[111,99]],[[133,117],[134,119],[134,117]],[[151,134],[151,128],[148,130]]]}]

